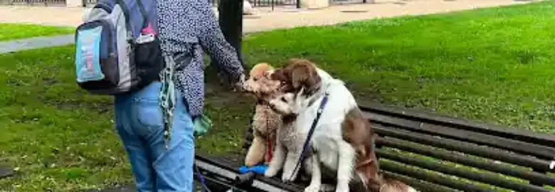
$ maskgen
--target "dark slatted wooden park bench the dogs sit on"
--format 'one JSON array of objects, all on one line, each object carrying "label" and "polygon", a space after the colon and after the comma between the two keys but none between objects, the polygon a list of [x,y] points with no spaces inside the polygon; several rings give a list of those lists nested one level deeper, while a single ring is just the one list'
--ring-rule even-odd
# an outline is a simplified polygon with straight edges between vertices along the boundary
[{"label": "dark slatted wooden park bench the dogs sit on", "polygon": [[[555,191],[555,136],[384,105],[361,107],[379,138],[386,176],[419,191]],[[245,148],[250,145],[245,139]],[[236,166],[197,156],[203,176],[245,191],[302,191],[306,183],[238,179]],[[217,170],[217,171],[216,171]],[[237,180],[235,180],[237,178]],[[550,188],[551,187],[551,188]]]}]

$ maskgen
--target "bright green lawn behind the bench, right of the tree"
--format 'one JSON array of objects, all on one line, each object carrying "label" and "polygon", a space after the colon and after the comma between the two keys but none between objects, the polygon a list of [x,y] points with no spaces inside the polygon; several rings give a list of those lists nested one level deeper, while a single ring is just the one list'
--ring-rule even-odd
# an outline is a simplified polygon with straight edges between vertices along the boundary
[{"label": "bright green lawn behind the bench, right of the tree", "polygon": [[313,60],[360,100],[555,133],[554,1],[245,38],[250,63]]}]

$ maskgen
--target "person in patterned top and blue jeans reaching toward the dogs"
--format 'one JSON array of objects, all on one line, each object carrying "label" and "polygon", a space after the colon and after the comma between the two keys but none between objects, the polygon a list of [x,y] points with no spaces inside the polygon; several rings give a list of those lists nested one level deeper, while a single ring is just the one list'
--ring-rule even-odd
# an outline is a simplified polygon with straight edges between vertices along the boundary
[{"label": "person in patterned top and blue jeans reaching toward the dogs", "polygon": [[[129,156],[137,191],[189,192],[194,174],[193,122],[203,111],[203,51],[237,88],[245,81],[244,69],[208,1],[156,1],[161,48],[166,65],[172,68],[164,70],[161,81],[115,97],[115,127]],[[173,108],[167,144],[161,96],[169,98]]]}]

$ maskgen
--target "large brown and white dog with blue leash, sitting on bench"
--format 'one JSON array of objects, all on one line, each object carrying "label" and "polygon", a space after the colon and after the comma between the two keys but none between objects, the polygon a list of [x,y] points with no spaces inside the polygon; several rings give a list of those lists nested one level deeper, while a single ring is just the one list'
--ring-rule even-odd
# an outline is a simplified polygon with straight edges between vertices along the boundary
[{"label": "large brown and white dog with blue leash, sitting on bench", "polygon": [[[296,116],[294,129],[302,133],[303,142],[324,94],[328,94],[327,105],[312,135],[312,179],[305,191],[319,191],[322,165],[336,173],[336,191],[349,191],[351,181],[359,181],[361,191],[386,191],[391,189],[389,186],[398,186],[379,174],[374,132],[341,80],[332,78],[314,63],[303,59],[290,60],[285,68],[275,70],[271,77],[281,82],[284,93],[271,100],[270,105],[282,115]],[[268,171],[273,169],[270,164]],[[352,179],[354,177],[357,179]],[[408,186],[404,189],[414,191]]]}]

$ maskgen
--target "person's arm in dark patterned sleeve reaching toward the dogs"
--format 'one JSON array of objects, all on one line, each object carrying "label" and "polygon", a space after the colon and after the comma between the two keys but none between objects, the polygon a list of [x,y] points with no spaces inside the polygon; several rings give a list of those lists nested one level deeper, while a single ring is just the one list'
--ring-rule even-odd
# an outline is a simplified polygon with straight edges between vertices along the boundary
[{"label": "person's arm in dark patterned sleeve reaching toward the dogs", "polygon": [[199,10],[203,15],[199,17],[199,42],[203,50],[210,55],[213,63],[219,65],[220,69],[224,70],[233,81],[238,82],[242,78],[244,69],[238,58],[237,50],[223,37],[208,1],[199,1],[202,1],[199,3]]}]

